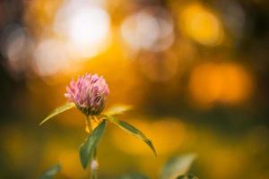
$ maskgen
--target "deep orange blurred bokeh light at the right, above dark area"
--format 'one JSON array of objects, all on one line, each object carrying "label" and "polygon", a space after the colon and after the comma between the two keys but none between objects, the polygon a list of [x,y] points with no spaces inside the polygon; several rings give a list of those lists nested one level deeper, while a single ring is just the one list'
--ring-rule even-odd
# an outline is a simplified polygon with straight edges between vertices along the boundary
[{"label": "deep orange blurred bokeh light at the right, above dark area", "polygon": [[195,102],[202,106],[213,102],[236,104],[250,96],[253,80],[239,64],[200,64],[191,73],[189,90]]}]

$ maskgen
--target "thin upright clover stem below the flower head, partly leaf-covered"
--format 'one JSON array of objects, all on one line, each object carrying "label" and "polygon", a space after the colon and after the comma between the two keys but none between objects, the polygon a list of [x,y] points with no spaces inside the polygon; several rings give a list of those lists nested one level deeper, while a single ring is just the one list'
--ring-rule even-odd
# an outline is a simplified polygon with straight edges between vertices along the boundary
[{"label": "thin upright clover stem below the flower head, partly leaf-covered", "polygon": [[[91,116],[91,119],[89,119],[89,116],[87,116],[87,125],[89,128],[90,134],[92,133],[92,124],[91,121],[93,120],[93,116]],[[98,160],[97,160],[97,149],[94,149],[93,156],[91,158],[91,179],[97,179],[98,178]]]}]

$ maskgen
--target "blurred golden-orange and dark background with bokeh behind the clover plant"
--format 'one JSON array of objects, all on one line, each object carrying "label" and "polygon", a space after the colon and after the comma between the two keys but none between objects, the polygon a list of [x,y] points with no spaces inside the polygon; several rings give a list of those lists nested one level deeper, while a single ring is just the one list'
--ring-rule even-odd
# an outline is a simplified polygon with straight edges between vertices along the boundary
[{"label": "blurred golden-orange and dark background with bokeh behind the clover plant", "polygon": [[269,178],[269,1],[1,0],[0,178],[87,178],[78,158],[86,132],[65,86],[103,75],[122,119],[159,154],[108,126],[100,178],[157,178],[177,154],[197,154],[199,178]]}]

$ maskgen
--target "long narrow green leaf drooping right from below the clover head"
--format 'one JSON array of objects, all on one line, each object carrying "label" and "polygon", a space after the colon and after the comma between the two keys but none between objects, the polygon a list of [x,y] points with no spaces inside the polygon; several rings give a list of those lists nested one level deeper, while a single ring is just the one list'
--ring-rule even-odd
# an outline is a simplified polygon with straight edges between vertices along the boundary
[{"label": "long narrow green leaf drooping right from below the clover head", "polygon": [[124,131],[131,133],[132,135],[134,135],[134,137],[144,141],[152,149],[154,155],[157,156],[157,153],[156,153],[156,150],[154,149],[152,141],[149,138],[147,138],[143,134],[143,132],[139,131],[131,124],[118,120],[115,116],[107,115],[107,119],[111,123],[116,124],[119,128],[123,129]]}]

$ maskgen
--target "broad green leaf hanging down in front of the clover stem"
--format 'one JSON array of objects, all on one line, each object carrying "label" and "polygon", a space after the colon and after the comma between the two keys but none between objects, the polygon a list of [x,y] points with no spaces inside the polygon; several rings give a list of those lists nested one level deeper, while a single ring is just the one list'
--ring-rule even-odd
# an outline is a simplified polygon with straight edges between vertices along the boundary
[{"label": "broad green leaf hanging down in front of the clover stem", "polygon": [[106,120],[103,120],[87,137],[86,141],[82,143],[80,148],[80,159],[82,167],[85,169],[92,158],[94,149],[100,142],[100,138],[105,130]]}]

